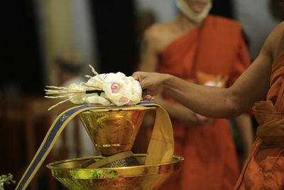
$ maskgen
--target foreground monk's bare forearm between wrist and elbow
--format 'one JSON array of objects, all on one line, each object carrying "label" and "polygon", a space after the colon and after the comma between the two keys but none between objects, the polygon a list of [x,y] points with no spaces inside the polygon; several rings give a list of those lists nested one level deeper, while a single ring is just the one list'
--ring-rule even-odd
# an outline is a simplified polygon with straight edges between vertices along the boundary
[{"label": "foreground monk's bare forearm between wrist and elbow", "polygon": [[229,88],[196,85],[168,75],[164,81],[164,93],[193,112],[207,117],[233,118],[242,112],[232,103]]}]

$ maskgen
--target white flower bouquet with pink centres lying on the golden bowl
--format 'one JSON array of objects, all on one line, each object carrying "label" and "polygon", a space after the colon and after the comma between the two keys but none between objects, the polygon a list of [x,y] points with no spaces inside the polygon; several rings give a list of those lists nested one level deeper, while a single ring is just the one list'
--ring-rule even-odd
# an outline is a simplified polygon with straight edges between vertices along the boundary
[{"label": "white flower bouquet with pink centres lying on the golden bowl", "polygon": [[[92,68],[91,65],[89,65]],[[69,88],[47,86],[46,96],[48,98],[66,98],[53,107],[70,101],[75,104],[99,104],[99,105],[135,105],[141,101],[142,89],[137,80],[131,76],[126,77],[124,73],[99,74],[92,68],[94,76],[86,75],[87,83],[77,85],[73,83]]]}]

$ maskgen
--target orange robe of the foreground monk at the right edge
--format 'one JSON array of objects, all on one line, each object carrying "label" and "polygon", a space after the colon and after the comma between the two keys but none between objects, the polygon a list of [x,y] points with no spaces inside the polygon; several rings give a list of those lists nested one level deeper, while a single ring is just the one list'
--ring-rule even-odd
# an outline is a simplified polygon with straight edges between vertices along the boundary
[{"label": "orange robe of the foreground monk at the right edge", "polygon": [[266,101],[256,102],[256,141],[234,189],[284,189],[284,52],[273,62]]}]

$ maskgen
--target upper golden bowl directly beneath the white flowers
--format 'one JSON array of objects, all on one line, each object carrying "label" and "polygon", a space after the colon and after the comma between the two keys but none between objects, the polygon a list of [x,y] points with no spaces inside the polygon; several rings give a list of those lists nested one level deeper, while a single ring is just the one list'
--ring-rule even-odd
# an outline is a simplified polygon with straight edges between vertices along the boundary
[{"label": "upper golden bowl directly beneath the white flowers", "polygon": [[153,109],[155,107],[111,107],[88,110],[79,116],[94,147],[109,156],[132,148],[146,112]]}]

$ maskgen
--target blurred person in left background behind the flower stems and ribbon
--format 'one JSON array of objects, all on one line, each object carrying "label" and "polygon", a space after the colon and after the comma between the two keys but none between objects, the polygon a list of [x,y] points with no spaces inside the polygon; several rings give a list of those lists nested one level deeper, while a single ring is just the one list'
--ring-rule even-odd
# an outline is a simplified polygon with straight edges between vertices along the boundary
[{"label": "blurred person in left background behind the flower stems and ribbon", "polygon": [[[60,51],[60,53],[55,56],[53,65],[60,86],[69,87],[72,83],[80,85],[81,82],[86,82],[86,78],[81,72],[84,65],[86,64],[84,63],[84,58],[80,51],[74,48],[66,48]],[[75,105],[68,104],[67,106],[70,108],[70,106]],[[76,147],[79,147],[79,149],[76,149]],[[53,153],[58,156],[64,156],[62,154],[64,149],[67,149],[67,157],[60,159],[91,157],[98,154],[97,150],[94,149],[94,144],[89,134],[87,134],[84,126],[76,117],[67,124],[62,135],[58,138],[53,147]]]}]

